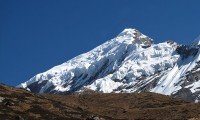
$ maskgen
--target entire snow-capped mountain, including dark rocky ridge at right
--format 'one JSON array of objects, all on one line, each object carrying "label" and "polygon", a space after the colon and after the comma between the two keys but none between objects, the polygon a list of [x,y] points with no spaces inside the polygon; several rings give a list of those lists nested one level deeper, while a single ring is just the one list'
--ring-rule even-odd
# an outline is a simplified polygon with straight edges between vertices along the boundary
[{"label": "entire snow-capped mountain, including dark rocky ridge at right", "polygon": [[150,91],[200,100],[200,37],[191,45],[154,44],[136,29],[125,29],[95,49],[37,74],[22,87],[36,93],[70,94]]}]

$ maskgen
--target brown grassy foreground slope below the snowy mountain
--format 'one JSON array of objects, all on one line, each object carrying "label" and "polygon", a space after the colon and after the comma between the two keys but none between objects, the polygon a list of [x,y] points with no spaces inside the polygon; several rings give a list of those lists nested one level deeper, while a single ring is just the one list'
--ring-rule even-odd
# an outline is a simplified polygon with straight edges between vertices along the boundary
[{"label": "brown grassy foreground slope below the snowy mountain", "polygon": [[33,94],[0,84],[0,120],[197,120],[200,104],[156,93]]}]

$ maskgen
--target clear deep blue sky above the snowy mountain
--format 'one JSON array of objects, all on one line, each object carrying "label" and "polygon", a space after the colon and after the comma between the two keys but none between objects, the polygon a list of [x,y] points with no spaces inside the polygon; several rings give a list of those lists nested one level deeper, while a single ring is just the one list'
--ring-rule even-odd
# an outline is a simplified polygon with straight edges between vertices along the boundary
[{"label": "clear deep blue sky above the snowy mountain", "polygon": [[0,0],[0,83],[17,85],[136,28],[156,43],[200,34],[200,0]]}]

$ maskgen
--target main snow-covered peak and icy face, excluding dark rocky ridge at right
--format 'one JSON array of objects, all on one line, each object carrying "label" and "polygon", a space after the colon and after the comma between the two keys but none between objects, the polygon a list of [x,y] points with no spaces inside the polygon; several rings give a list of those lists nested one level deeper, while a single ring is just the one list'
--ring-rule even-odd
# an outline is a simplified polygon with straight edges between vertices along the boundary
[{"label": "main snow-covered peak and icy face, excluding dark rocky ridge at right", "polygon": [[138,80],[173,67],[178,59],[175,50],[167,42],[153,44],[138,30],[125,29],[117,37],[18,87],[39,93],[73,93],[84,87],[99,92],[134,92],[137,89],[132,86]]}]

